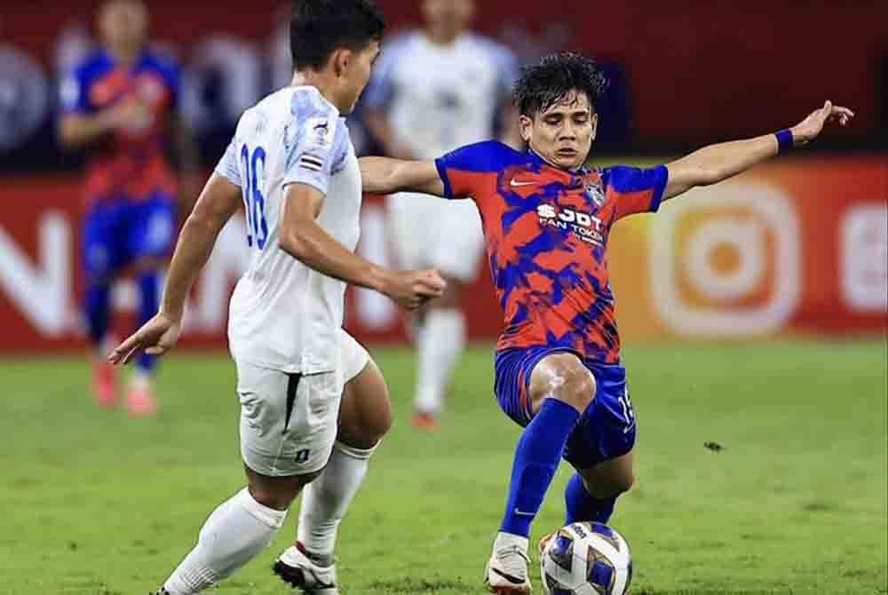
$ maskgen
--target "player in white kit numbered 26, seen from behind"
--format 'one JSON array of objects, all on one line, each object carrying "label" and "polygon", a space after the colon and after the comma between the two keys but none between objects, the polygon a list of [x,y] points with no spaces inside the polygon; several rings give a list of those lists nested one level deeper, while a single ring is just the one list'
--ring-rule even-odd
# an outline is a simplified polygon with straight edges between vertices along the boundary
[{"label": "player in white kit numbered 26, seen from behind", "polygon": [[125,363],[175,344],[188,290],[245,204],[250,268],[234,290],[228,338],[247,487],[210,514],[158,594],[191,595],[232,575],[271,543],[306,485],[297,543],[274,570],[306,592],[339,592],[337,527],[391,424],[385,381],[341,328],[345,285],[407,308],[445,286],[434,270],[390,271],[353,253],[361,175],[343,115],[369,80],[384,28],[371,0],[294,3],[293,85],[244,112],[179,237],[160,312],[110,356]]}]

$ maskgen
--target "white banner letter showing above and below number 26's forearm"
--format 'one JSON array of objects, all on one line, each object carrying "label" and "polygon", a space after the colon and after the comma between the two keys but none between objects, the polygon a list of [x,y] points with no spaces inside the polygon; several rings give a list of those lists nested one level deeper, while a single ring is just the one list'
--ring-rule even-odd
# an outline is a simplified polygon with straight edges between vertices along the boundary
[{"label": "white banner letter showing above and below number 26's forearm", "polygon": [[[361,208],[361,243],[358,246],[361,256],[378,265],[388,266],[386,236],[385,210],[365,203]],[[398,318],[398,308],[391,299],[364,288],[354,291],[353,313],[361,321],[361,326],[370,330],[387,329]]]}]

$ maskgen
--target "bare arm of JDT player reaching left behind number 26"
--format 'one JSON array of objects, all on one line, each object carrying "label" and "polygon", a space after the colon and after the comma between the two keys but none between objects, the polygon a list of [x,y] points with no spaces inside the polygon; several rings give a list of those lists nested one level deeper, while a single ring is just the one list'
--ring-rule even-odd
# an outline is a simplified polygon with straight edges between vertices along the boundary
[{"label": "bare arm of JDT player reaching left behind number 26", "polygon": [[361,157],[364,191],[392,194],[409,191],[445,196],[444,182],[432,161],[401,161],[388,157]]}]

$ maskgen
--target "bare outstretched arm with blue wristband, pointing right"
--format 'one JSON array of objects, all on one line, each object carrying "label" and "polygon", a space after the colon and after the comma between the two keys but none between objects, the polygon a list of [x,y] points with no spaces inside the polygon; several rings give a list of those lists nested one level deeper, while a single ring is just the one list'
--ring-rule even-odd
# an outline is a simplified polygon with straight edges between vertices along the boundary
[{"label": "bare outstretched arm with blue wristband, pointing right", "polygon": [[709,186],[731,178],[790,147],[808,144],[817,138],[826,123],[837,121],[844,126],[852,117],[854,113],[847,107],[837,107],[827,101],[788,131],[703,147],[667,165],[669,183],[663,200],[694,186]]}]

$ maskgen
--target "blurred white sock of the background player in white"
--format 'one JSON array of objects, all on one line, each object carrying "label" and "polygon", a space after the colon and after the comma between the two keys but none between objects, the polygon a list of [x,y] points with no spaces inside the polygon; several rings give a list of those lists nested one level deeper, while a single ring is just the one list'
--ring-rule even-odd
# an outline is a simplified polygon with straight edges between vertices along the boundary
[{"label": "blurred white sock of the background player in white", "polygon": [[460,310],[430,310],[417,337],[419,369],[416,372],[414,409],[440,413],[450,375],[465,346],[465,317]]}]

